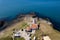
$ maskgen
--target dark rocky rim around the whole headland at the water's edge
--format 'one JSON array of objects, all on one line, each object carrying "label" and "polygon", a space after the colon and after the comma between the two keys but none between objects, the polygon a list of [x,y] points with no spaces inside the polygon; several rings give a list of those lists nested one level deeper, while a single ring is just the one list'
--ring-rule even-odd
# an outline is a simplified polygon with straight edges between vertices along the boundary
[{"label": "dark rocky rim around the whole headland at the water's edge", "polygon": [[[32,14],[32,13],[33,13],[33,14]],[[5,29],[6,27],[8,27],[8,26],[10,26],[10,25],[13,25],[13,24],[15,24],[15,23],[17,23],[17,22],[19,22],[19,21],[22,21],[22,20],[23,20],[23,17],[24,17],[26,14],[32,14],[32,15],[38,16],[38,15],[37,15],[37,12],[28,12],[28,13],[21,13],[21,14],[16,15],[16,17],[15,17],[13,20],[11,20],[11,21],[1,20],[1,21],[0,21],[0,31],[3,30],[3,29]],[[39,17],[39,16],[38,16],[38,17]],[[39,17],[39,18],[43,18],[43,19],[45,19],[45,20],[47,20],[47,21],[52,22],[51,19],[48,18],[48,17]],[[9,19],[9,17],[7,17],[7,19]],[[6,20],[7,20],[7,19],[6,19]],[[56,27],[56,25],[54,25],[54,23],[53,23],[53,26],[54,26],[53,28]],[[55,29],[57,29],[57,28],[55,28]],[[58,29],[57,29],[57,30],[58,30]],[[59,31],[59,30],[58,30],[58,31]]]}]

